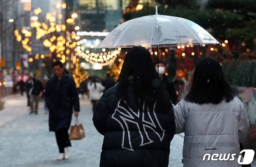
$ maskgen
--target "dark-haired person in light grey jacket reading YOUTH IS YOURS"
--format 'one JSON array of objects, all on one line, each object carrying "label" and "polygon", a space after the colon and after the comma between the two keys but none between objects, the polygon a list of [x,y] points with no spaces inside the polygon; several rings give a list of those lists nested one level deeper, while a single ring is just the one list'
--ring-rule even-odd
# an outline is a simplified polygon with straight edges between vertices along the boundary
[{"label": "dark-haired person in light grey jacket reading YOUTH IS YOURS", "polygon": [[[247,136],[249,121],[219,62],[211,57],[198,62],[191,90],[174,107],[174,115],[175,133],[185,134],[183,167],[240,166],[239,143]],[[231,154],[236,154],[233,161]]]}]

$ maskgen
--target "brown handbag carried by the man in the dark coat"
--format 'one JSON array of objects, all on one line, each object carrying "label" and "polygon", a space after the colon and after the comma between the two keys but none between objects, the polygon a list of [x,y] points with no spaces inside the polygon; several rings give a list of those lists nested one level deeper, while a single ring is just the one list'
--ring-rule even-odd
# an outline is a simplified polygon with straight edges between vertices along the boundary
[{"label": "brown handbag carried by the man in the dark coat", "polygon": [[78,118],[75,119],[75,125],[71,126],[69,138],[70,140],[81,140],[85,138],[84,127],[79,124]]}]

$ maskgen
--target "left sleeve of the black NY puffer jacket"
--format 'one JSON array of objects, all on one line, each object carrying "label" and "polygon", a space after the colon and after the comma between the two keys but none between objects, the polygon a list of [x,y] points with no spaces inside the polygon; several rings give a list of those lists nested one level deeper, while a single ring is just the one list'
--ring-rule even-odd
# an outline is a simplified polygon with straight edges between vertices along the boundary
[{"label": "left sleeve of the black NY puffer jacket", "polygon": [[105,134],[107,124],[107,105],[104,94],[101,96],[95,107],[95,112],[93,113],[93,124],[100,134]]}]

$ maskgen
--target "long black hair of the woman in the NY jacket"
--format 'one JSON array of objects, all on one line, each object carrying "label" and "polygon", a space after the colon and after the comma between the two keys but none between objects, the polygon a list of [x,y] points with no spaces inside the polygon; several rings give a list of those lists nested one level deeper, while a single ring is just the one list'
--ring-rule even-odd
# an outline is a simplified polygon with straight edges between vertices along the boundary
[{"label": "long black hair of the woman in the NY jacket", "polygon": [[142,46],[134,46],[126,54],[117,84],[119,98],[128,99],[128,84],[133,85],[138,106],[144,101],[146,105],[156,102],[157,108],[160,106],[162,109],[158,112],[166,112],[170,108],[170,97],[154,68],[149,51]]}]

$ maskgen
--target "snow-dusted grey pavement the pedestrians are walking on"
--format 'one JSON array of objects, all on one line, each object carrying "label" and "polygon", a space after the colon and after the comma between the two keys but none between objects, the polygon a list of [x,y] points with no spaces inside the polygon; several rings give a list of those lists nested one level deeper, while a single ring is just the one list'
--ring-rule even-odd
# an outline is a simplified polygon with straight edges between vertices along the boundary
[{"label": "snow-dusted grey pavement the pedestrians are walking on", "polygon": [[[81,100],[79,115],[86,138],[72,141],[72,157],[63,161],[56,160],[58,146],[54,133],[49,132],[44,103],[40,102],[39,115],[29,115],[25,96],[5,100],[5,109],[0,111],[0,167],[99,166],[103,136],[93,126],[88,100]],[[183,137],[175,135],[171,142],[170,167],[182,167],[182,145]]]}]

